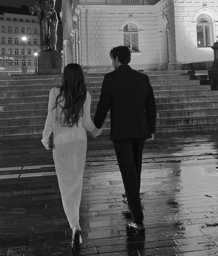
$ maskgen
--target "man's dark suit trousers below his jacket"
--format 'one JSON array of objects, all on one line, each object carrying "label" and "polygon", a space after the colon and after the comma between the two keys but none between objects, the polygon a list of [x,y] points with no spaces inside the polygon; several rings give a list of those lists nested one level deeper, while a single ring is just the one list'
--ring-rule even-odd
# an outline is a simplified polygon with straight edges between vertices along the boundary
[{"label": "man's dark suit trousers below his jacket", "polygon": [[142,150],[145,139],[128,139],[113,141],[118,165],[121,171],[129,209],[134,223],[143,220],[139,191],[142,170]]}]

